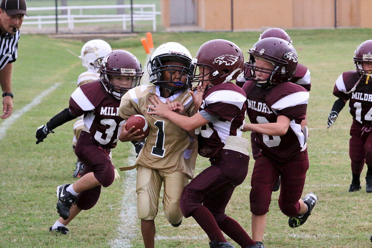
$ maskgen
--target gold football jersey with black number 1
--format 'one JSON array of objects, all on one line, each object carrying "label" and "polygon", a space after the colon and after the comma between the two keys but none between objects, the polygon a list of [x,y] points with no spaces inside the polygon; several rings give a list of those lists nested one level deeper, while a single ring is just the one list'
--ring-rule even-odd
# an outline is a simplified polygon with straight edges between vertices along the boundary
[{"label": "gold football jersey with black number 1", "polygon": [[[138,155],[136,164],[165,173],[181,171],[191,179],[198,154],[197,141],[170,120],[147,115],[149,109],[146,106],[152,104],[148,98],[154,95],[166,103],[166,98],[160,96],[160,87],[154,85],[132,88],[121,99],[119,116],[128,119],[132,115],[143,115],[150,127],[150,134]],[[187,89],[177,92],[168,99],[171,102],[181,102],[185,106],[187,115],[192,116],[196,113]]]}]

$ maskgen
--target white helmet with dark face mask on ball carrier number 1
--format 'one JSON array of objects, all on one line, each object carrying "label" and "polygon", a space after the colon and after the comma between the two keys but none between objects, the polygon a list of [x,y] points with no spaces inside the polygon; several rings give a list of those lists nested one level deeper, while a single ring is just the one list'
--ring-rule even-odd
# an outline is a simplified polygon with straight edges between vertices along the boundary
[{"label": "white helmet with dark face mask on ball carrier number 1", "polygon": [[[163,65],[163,62],[165,61],[175,61],[175,62],[181,62],[185,64],[185,66],[179,66],[179,65]],[[153,54],[151,55],[150,60],[147,63],[147,71],[150,75],[149,80],[150,83],[155,84],[157,86],[166,88],[170,92],[176,92],[179,91],[182,88],[190,88],[190,84],[188,82],[188,79],[186,83],[182,83],[180,81],[164,81],[161,78],[161,73],[163,71],[180,71],[182,73],[186,73],[187,76],[192,75],[192,56],[185,48],[185,46],[177,43],[177,42],[167,42],[164,43],[158,48],[155,49]],[[170,69],[172,67],[172,69]],[[171,73],[170,73],[171,74]],[[173,87],[166,85],[166,83],[173,83],[177,86],[180,84],[183,84],[182,88],[179,87]]]}]

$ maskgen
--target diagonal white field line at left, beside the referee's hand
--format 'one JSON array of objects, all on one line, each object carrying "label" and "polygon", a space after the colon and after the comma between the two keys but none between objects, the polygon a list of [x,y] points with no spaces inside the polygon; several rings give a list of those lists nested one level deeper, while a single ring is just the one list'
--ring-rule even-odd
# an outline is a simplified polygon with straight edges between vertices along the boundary
[{"label": "diagonal white field line at left, beside the referee's hand", "polygon": [[6,133],[6,129],[10,128],[13,125],[13,123],[15,122],[16,119],[18,119],[21,115],[23,115],[24,113],[26,113],[28,110],[32,109],[33,107],[35,107],[36,105],[38,105],[39,103],[41,103],[41,100],[45,96],[48,96],[53,90],[55,90],[56,88],[58,88],[58,86],[60,86],[60,84],[61,83],[56,83],[56,84],[52,85],[50,88],[48,88],[47,90],[45,90],[42,93],[40,93],[39,96],[35,97],[32,100],[31,103],[27,104],[22,109],[15,111],[14,113],[12,113],[12,115],[10,115],[9,117],[7,117],[4,120],[4,122],[1,123],[1,125],[0,125],[0,140],[4,138],[5,133]]}]

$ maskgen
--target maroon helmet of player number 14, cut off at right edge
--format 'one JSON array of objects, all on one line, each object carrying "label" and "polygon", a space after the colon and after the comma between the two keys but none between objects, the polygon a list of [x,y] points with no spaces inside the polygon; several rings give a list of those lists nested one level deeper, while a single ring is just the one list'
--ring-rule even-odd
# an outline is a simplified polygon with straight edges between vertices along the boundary
[{"label": "maroon helmet of player number 14, cut off at right edge", "polygon": [[353,60],[360,79],[365,78],[367,74],[372,74],[372,71],[363,70],[362,65],[362,62],[372,62],[372,40],[365,41],[357,47]]}]

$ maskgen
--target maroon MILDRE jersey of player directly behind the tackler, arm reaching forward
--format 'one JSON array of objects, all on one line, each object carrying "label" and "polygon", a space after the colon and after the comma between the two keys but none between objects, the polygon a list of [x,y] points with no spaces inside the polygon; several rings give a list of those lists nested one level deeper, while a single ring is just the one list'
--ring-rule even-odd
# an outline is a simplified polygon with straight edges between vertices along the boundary
[{"label": "maroon MILDRE jersey of player directly behind the tackler, arm reaching forward", "polygon": [[247,81],[243,90],[247,94],[247,115],[251,123],[274,123],[280,115],[291,120],[285,135],[269,136],[256,132],[256,144],[262,154],[277,161],[287,161],[306,149],[300,123],[305,119],[309,93],[303,87],[286,82],[262,90],[253,81]]}]

